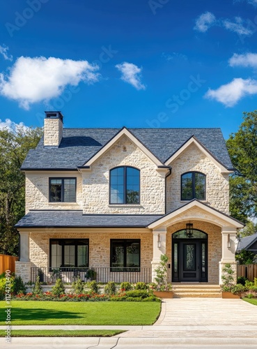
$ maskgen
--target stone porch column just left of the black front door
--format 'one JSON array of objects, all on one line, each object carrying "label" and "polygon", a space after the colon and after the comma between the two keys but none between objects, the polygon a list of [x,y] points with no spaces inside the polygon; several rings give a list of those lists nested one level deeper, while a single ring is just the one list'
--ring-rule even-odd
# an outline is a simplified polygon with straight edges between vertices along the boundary
[{"label": "stone porch column just left of the black front door", "polygon": [[166,233],[166,228],[153,230],[152,282],[155,282],[155,269],[159,266],[161,255],[166,253]]}]

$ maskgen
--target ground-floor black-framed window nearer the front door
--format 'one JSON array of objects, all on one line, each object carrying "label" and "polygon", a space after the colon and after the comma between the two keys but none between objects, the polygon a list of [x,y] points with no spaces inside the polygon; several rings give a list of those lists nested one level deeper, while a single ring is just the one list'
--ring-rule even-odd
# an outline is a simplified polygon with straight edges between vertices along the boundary
[{"label": "ground-floor black-framed window nearer the front door", "polygon": [[111,272],[140,272],[140,239],[111,239]]}]

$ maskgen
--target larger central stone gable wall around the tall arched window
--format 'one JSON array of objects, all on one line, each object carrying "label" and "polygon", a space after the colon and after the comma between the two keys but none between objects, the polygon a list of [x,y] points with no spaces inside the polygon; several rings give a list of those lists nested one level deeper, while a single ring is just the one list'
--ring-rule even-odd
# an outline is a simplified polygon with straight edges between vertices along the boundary
[{"label": "larger central stone gable wall around the tall arched window", "polygon": [[[109,205],[109,170],[123,165],[140,170],[139,205]],[[153,161],[126,136],[91,168],[91,172],[83,173],[85,214],[165,214],[165,179]]]}]

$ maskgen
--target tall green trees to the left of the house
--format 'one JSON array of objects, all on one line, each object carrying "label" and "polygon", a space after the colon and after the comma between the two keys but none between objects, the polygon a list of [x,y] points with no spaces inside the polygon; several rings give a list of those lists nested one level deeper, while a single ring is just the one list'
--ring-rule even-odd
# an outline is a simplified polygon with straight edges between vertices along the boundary
[{"label": "tall green trees to the left of the house", "polygon": [[42,128],[0,130],[0,253],[18,254],[18,234],[13,225],[25,213],[25,177],[20,167],[34,149]]}]

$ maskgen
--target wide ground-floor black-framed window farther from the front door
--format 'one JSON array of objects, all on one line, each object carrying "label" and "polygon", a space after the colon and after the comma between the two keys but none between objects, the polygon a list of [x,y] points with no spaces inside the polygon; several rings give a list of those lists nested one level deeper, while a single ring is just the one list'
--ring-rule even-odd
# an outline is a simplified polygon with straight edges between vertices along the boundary
[{"label": "wide ground-floor black-framed window farther from the front door", "polygon": [[88,239],[50,239],[50,267],[88,267]]}]

